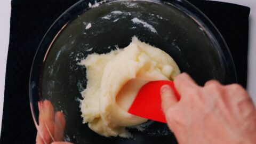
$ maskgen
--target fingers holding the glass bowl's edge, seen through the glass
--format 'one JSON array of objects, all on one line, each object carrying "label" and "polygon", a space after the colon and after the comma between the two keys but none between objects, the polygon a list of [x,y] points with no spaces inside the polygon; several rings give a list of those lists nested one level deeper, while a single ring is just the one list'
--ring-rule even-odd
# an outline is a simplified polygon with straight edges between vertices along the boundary
[{"label": "fingers holding the glass bowl's edge, seen through the glass", "polygon": [[[49,100],[38,102],[39,125],[36,144],[71,144],[63,141],[66,120],[61,111],[54,112]],[[53,142],[56,141],[56,142]]]}]

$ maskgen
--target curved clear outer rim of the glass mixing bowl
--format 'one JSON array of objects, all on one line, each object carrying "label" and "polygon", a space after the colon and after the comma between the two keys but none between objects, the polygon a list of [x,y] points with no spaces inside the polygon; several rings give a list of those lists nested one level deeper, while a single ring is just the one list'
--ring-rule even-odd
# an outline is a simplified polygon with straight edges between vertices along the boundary
[{"label": "curved clear outer rim of the glass mixing bowl", "polygon": [[[37,47],[33,63],[31,65],[30,77],[29,77],[29,103],[30,110],[33,116],[35,126],[38,130],[38,117],[36,112],[38,111],[37,105],[41,95],[41,82],[42,82],[42,70],[44,67],[44,61],[46,59],[47,53],[50,51],[51,45],[54,39],[58,37],[60,32],[68,25],[69,21],[72,21],[76,17],[74,15],[82,14],[93,7],[97,7],[98,4],[116,2],[116,1],[131,1],[131,0],[81,0],[69,7],[65,12],[63,12],[51,25],[51,27],[46,31],[41,42]],[[211,41],[217,45],[217,51],[220,54],[220,59],[225,62],[225,73],[228,77],[225,79],[225,84],[237,82],[235,64],[231,53],[229,51],[228,45],[225,39],[221,35],[220,31],[215,27],[213,22],[206,17],[206,15],[199,10],[196,6],[191,4],[186,0],[135,0],[135,1],[148,1],[167,4],[174,6],[181,10],[183,13],[188,15],[193,19],[199,26],[203,28],[207,36]],[[47,47],[47,49],[46,49]],[[33,95],[38,95],[38,99],[33,98]],[[37,110],[35,110],[35,108]]]}]

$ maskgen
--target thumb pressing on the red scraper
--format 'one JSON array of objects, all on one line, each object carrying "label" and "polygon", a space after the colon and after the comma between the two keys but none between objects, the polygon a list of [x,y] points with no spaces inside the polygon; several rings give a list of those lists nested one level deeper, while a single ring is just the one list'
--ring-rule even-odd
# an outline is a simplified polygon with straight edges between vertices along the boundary
[{"label": "thumb pressing on the red scraper", "polygon": [[167,110],[178,102],[172,88],[169,85],[163,85],[161,87],[161,98],[162,98],[162,110],[164,114]]}]

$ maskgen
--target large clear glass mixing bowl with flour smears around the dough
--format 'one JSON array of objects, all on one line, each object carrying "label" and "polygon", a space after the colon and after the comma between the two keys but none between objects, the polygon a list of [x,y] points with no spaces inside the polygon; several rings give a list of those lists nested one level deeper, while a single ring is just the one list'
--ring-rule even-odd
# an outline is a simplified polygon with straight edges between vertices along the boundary
[{"label": "large clear glass mixing bowl with flour smears around the dough", "polygon": [[82,124],[79,99],[87,80],[86,68],[77,63],[88,54],[123,48],[133,36],[170,54],[199,85],[236,82],[221,34],[187,1],[79,1],[47,31],[31,68],[31,112],[44,143],[177,143],[163,123],[129,127],[130,139],[102,137]]}]

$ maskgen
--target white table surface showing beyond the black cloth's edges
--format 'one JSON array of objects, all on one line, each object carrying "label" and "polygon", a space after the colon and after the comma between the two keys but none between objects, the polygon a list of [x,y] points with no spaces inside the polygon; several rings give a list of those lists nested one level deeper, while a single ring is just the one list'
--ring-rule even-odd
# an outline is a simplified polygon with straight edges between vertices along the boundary
[{"label": "white table surface showing beyond the black cloth's edges", "polygon": [[[218,1],[218,0],[213,0]],[[250,32],[249,32],[249,69],[247,91],[256,103],[256,1],[255,0],[219,0],[221,2],[229,2],[251,7],[250,12]],[[0,1],[0,131],[2,127],[3,102],[4,102],[4,83],[5,83],[5,67],[7,60],[7,51],[9,46],[10,33],[10,15],[11,1]],[[254,75],[253,75],[254,74]]]}]

